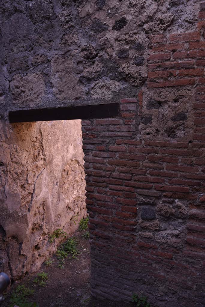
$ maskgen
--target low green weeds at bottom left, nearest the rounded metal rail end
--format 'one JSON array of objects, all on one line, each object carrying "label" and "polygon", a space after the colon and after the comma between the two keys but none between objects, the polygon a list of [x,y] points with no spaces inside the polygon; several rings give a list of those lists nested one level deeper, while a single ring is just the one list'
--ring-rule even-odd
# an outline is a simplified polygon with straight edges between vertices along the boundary
[{"label": "low green weeds at bottom left, nearest the rounded metal rail end", "polygon": [[26,288],[24,285],[17,286],[11,293],[10,307],[18,305],[19,307],[39,307],[36,302],[29,302],[28,297],[34,293],[34,290]]}]

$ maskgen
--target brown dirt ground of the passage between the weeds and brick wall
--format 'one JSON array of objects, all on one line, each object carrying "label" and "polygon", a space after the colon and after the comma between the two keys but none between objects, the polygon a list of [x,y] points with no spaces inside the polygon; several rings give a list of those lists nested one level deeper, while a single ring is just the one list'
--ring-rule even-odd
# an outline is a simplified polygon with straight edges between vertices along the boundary
[{"label": "brown dirt ground of the passage between the weeds and brick wall", "polygon": [[[77,259],[66,258],[64,269],[58,268],[55,255],[51,266],[42,265],[39,272],[48,273],[48,281],[44,287],[34,285],[33,280],[37,274],[25,276],[21,281],[15,282],[5,296],[2,307],[10,306],[10,293],[17,285],[25,285],[35,289],[29,301],[37,302],[39,307],[129,307],[132,304],[99,300],[90,294],[90,244],[89,240],[82,238],[82,232],[74,234],[78,241],[80,254]],[[38,273],[39,273],[38,272]]]}]

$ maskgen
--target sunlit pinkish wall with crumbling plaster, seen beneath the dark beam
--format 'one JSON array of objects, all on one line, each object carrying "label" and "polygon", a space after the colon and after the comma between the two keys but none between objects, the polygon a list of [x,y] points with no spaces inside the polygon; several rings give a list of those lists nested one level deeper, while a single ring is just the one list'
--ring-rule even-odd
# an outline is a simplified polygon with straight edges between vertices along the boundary
[{"label": "sunlit pinkish wall with crumbling plaster, seen beneath the dark beam", "polygon": [[81,121],[13,124],[2,141],[0,270],[15,280],[56,250],[54,230],[71,235],[86,215]]}]

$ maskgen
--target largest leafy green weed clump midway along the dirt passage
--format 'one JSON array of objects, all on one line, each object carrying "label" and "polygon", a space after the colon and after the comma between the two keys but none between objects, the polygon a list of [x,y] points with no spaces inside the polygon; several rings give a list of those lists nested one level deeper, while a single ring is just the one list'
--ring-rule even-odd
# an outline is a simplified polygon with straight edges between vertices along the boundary
[{"label": "largest leafy green weed clump midway along the dirt passage", "polygon": [[64,268],[65,259],[70,256],[72,259],[77,259],[79,250],[77,249],[77,241],[75,238],[70,238],[58,248],[56,256],[58,258],[58,267]]}]

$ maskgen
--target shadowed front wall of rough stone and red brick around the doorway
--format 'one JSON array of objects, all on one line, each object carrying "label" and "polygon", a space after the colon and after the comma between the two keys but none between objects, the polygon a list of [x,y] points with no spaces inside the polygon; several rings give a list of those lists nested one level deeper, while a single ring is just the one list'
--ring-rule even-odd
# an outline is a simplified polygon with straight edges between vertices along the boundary
[{"label": "shadowed front wall of rough stone and red brick around the doorway", "polygon": [[8,111],[120,104],[119,117],[82,122],[92,294],[204,307],[205,2],[7,0],[0,10],[2,144]]}]

